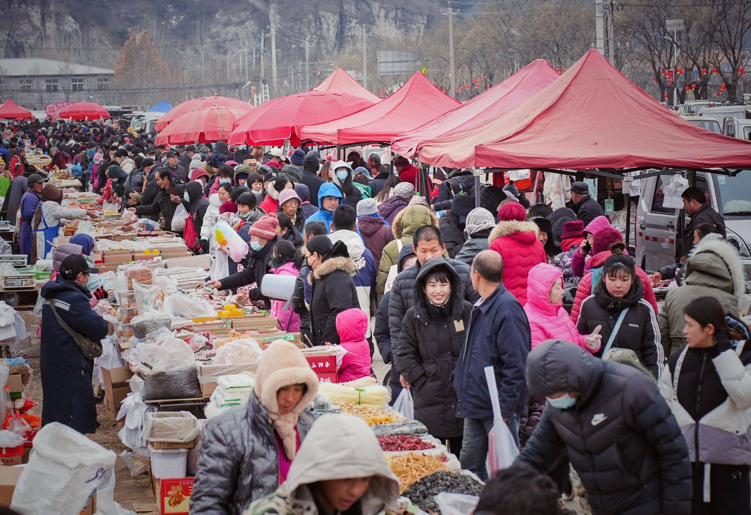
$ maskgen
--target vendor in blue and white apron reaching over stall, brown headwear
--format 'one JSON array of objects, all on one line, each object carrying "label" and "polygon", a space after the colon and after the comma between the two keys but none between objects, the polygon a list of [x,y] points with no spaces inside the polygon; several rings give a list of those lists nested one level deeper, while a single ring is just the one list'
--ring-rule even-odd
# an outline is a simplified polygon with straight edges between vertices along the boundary
[{"label": "vendor in blue and white apron reaching over stall, brown headwear", "polygon": [[32,245],[30,263],[37,259],[44,259],[52,247],[51,242],[57,238],[60,222],[65,219],[80,219],[97,216],[95,211],[62,207],[62,191],[53,184],[45,184],[42,188],[41,202],[34,214],[32,229],[35,235],[35,245]]}]

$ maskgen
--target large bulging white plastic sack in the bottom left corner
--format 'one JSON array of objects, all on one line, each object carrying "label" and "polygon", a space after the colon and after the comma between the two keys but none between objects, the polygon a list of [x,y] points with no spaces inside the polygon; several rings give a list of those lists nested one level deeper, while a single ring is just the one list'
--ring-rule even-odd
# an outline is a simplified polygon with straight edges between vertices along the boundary
[{"label": "large bulging white plastic sack in the bottom left corner", "polygon": [[23,515],[78,514],[103,484],[116,455],[71,427],[53,422],[34,439],[11,508]]}]

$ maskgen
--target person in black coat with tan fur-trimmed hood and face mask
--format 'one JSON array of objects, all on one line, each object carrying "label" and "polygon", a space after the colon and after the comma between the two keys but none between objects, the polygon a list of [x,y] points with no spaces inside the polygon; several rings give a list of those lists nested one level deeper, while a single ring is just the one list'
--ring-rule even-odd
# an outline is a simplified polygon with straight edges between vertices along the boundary
[{"label": "person in black coat with tan fur-trimmed hood and face mask", "polygon": [[344,241],[331,243],[327,236],[313,236],[305,244],[306,261],[311,272],[308,283],[310,323],[313,345],[340,343],[336,316],[342,311],[359,307],[357,289],[352,276],[357,273]]}]

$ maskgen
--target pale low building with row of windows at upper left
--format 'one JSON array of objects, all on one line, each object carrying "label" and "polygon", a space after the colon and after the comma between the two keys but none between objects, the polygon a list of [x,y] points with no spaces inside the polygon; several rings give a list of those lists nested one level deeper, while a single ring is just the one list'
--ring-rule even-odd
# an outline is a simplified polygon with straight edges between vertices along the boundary
[{"label": "pale low building with row of windows at upper left", "polygon": [[115,70],[43,58],[0,59],[0,97],[26,109],[48,103],[104,100]]}]

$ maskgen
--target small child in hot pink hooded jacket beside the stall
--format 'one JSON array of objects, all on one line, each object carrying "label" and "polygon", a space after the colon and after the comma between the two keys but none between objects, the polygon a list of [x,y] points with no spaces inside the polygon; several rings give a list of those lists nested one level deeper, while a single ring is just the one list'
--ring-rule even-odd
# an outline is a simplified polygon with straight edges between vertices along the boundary
[{"label": "small child in hot pink hooded jacket beside the stall", "polygon": [[342,357],[342,365],[337,370],[339,382],[354,381],[370,375],[370,346],[365,339],[368,323],[368,316],[357,307],[336,315],[336,332],[342,341],[339,345],[347,349],[347,354]]}]

